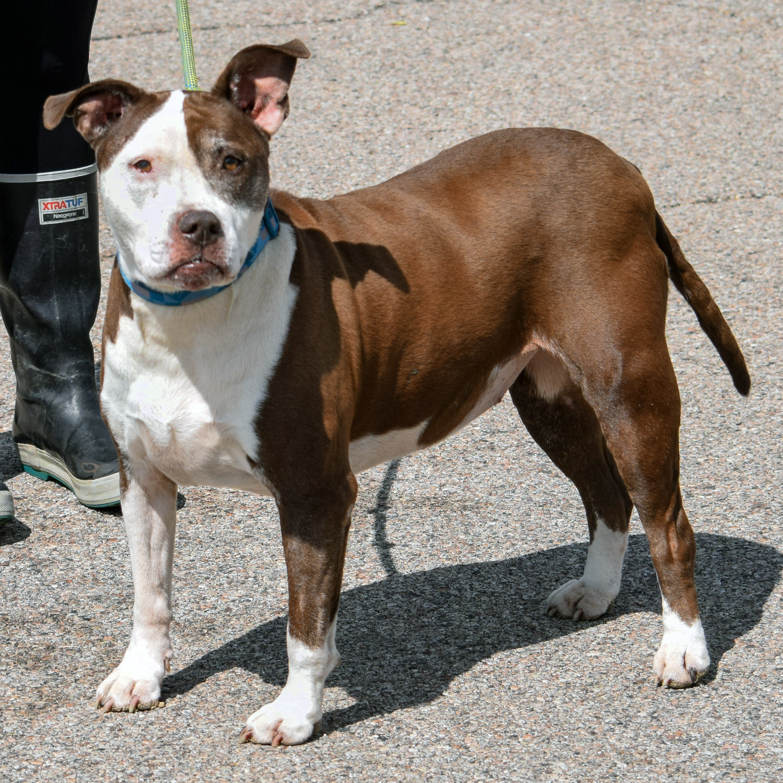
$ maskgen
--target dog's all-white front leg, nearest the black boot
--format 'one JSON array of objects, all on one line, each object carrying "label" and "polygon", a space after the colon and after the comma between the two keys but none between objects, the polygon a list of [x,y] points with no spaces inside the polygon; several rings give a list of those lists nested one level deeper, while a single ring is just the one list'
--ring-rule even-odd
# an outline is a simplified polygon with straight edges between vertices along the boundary
[{"label": "dog's all-white front leg, nearest the black boot", "polygon": [[119,666],[98,688],[96,706],[110,712],[157,706],[173,652],[171,568],[177,485],[153,467],[122,467],[122,514],[133,568],[133,632]]}]

